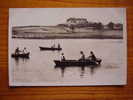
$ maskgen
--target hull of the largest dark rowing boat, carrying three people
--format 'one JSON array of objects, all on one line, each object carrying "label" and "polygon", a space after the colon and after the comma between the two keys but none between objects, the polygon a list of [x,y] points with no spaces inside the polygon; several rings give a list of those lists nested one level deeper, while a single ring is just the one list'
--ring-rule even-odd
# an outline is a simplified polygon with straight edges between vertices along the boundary
[{"label": "hull of the largest dark rowing boat, carrying three people", "polygon": [[54,60],[56,66],[89,66],[89,65],[100,65],[101,64],[101,59],[97,58],[96,61],[93,60]]}]

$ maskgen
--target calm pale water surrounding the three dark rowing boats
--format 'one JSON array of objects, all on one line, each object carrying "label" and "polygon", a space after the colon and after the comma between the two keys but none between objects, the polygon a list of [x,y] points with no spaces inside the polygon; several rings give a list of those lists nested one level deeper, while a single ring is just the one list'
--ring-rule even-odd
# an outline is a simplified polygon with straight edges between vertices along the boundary
[{"label": "calm pale water surrounding the three dark rowing boats", "polygon": [[[12,85],[113,85],[125,84],[126,65],[122,39],[12,39],[10,55],[16,47],[30,51],[29,59],[15,60],[10,56],[10,82]],[[62,51],[40,51],[39,46],[50,47],[60,43]],[[93,51],[102,59],[101,65],[56,68],[53,60],[79,59]]]}]

